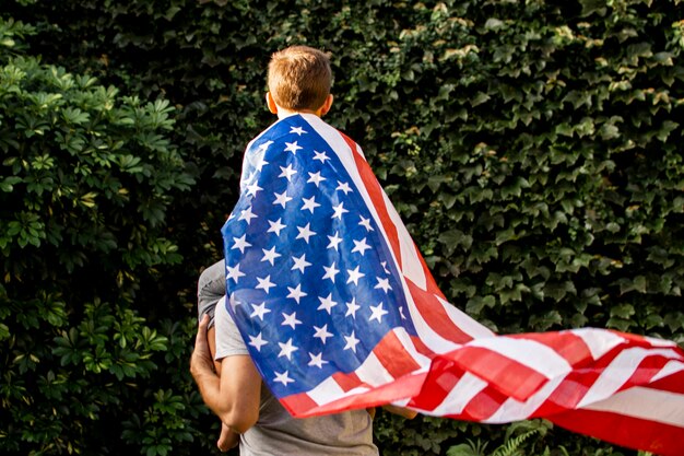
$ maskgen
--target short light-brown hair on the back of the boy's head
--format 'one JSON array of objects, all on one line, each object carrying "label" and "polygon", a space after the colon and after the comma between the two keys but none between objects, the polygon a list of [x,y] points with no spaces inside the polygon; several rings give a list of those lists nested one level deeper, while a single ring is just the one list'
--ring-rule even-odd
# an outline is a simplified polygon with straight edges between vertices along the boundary
[{"label": "short light-brown hair on the back of the boy's head", "polygon": [[290,110],[317,110],[330,95],[330,57],[308,46],[291,46],[271,56],[268,85],[273,101]]}]

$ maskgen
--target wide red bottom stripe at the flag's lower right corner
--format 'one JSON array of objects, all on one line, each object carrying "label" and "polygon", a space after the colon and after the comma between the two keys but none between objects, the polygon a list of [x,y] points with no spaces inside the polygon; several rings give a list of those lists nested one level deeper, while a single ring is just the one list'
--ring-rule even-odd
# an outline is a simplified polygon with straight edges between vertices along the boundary
[{"label": "wide red bottom stripe at the flag's lower right corner", "polygon": [[648,451],[661,456],[684,455],[684,429],[595,410],[573,410],[546,417],[555,424],[617,445]]}]

